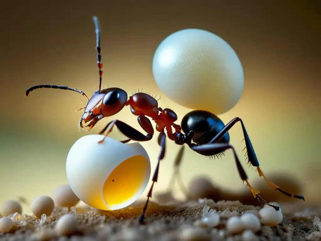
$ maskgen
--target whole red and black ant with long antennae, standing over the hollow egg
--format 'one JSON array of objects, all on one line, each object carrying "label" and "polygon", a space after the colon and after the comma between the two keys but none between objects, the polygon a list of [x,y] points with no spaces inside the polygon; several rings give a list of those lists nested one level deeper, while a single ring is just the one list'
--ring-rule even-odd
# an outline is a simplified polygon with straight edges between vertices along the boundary
[{"label": "whole red and black ant with long antennae, standing over the hollow egg", "polygon": [[[97,17],[93,17],[93,22],[95,25],[96,32],[96,50],[97,50],[97,64],[99,68],[99,89],[94,92],[94,94],[89,99],[87,95],[77,89],[72,89],[67,86],[61,85],[36,85],[32,86],[26,91],[26,96],[35,89],[39,88],[54,88],[54,89],[64,89],[72,90],[78,92],[85,96],[88,100],[86,107],[80,108],[83,114],[79,121],[79,128],[86,131],[91,130],[95,124],[103,119],[104,117],[113,116],[116,113],[120,112],[125,106],[129,106],[132,114],[137,116],[137,121],[146,134],[141,133],[140,131],[134,129],[133,127],[127,125],[123,121],[114,120],[109,122],[104,129],[100,131],[99,134],[104,134],[104,137],[99,141],[102,143],[108,134],[112,131],[113,127],[116,126],[127,138],[127,140],[122,141],[127,143],[130,140],[134,141],[149,141],[154,135],[154,128],[149,118],[156,123],[156,130],[159,132],[158,144],[160,146],[160,153],[158,156],[158,162],[155,169],[155,172],[152,177],[152,185],[147,195],[147,200],[143,208],[142,215],[139,217],[139,222],[143,223],[145,218],[145,212],[148,206],[149,199],[152,197],[152,190],[154,183],[158,180],[158,172],[160,161],[165,156],[165,143],[166,136],[169,139],[173,140],[178,145],[187,144],[193,151],[203,155],[203,156],[216,156],[224,155],[224,152],[227,149],[231,149],[234,154],[234,159],[236,162],[236,167],[238,169],[239,175],[243,181],[247,184],[250,190],[253,193],[254,198],[257,198],[259,202],[264,203],[273,207],[276,211],[280,210],[278,206],[273,206],[268,204],[260,195],[259,191],[254,189],[249,182],[247,181],[247,174],[245,173],[239,157],[235,152],[235,149],[230,145],[230,136],[228,131],[236,124],[240,123],[243,129],[244,140],[247,150],[248,163],[255,166],[259,176],[262,176],[265,179],[265,182],[269,185],[270,188],[282,192],[283,194],[304,200],[303,196],[293,195],[288,192],[284,192],[277,185],[270,182],[262,170],[259,167],[259,162],[257,160],[256,154],[254,152],[252,143],[247,134],[243,121],[236,117],[231,120],[227,125],[217,117],[215,114],[204,111],[204,110],[194,110],[187,113],[182,121],[181,125],[175,124],[178,117],[176,113],[168,108],[162,109],[158,107],[158,102],[155,98],[147,93],[136,93],[127,98],[127,93],[125,90],[111,87],[107,89],[101,89],[101,78],[103,74],[103,64],[101,63],[100,55],[100,23]],[[149,118],[147,118],[149,117]],[[172,128],[175,132],[173,133]],[[182,131],[185,133],[183,134]]]}]

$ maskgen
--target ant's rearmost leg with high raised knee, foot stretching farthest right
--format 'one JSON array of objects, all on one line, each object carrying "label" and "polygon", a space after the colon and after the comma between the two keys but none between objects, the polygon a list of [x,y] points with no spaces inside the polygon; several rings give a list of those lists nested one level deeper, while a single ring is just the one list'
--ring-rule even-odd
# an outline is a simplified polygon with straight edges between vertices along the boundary
[{"label": "ant's rearmost leg with high raised knee, foot stretching farthest right", "polygon": [[231,120],[223,129],[221,129],[221,131],[219,133],[217,133],[217,135],[208,143],[217,143],[221,140],[221,138],[224,136],[224,134],[226,132],[228,132],[232,126],[234,126],[235,123],[237,122],[241,122],[242,125],[242,129],[243,129],[243,135],[244,135],[244,140],[245,140],[245,145],[246,145],[246,150],[247,150],[247,157],[248,157],[248,163],[251,163],[251,165],[257,167],[257,172],[259,174],[259,176],[263,176],[265,182],[268,184],[268,186],[272,189],[274,189],[275,191],[279,191],[282,192],[283,194],[287,195],[288,197],[294,197],[294,198],[298,198],[298,199],[302,199],[304,201],[304,197],[301,195],[294,195],[288,192],[284,192],[283,190],[281,190],[279,188],[279,186],[275,185],[274,183],[270,182],[265,175],[263,174],[263,172],[261,171],[260,167],[259,167],[259,162],[257,160],[256,154],[254,152],[251,140],[247,134],[247,131],[245,129],[244,123],[243,121],[239,118],[236,117],[233,120]]}]

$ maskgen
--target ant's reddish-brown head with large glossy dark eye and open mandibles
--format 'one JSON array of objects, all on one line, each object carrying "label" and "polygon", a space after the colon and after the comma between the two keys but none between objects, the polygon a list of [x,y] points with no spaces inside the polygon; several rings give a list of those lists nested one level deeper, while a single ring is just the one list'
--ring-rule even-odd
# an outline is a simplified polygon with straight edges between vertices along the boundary
[{"label": "ant's reddish-brown head with large glossy dark eye and open mandibles", "polygon": [[112,87],[96,90],[87,103],[79,122],[82,129],[91,130],[94,125],[104,117],[120,112],[127,102],[125,90]]}]

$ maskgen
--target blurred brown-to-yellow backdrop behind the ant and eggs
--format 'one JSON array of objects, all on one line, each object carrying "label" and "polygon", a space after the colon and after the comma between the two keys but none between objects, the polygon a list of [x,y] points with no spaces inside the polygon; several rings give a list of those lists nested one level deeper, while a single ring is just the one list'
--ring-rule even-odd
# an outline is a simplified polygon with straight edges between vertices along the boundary
[{"label": "blurred brown-to-yellow backdrop behind the ant and eggs", "polygon": [[[222,37],[242,62],[245,86],[239,103],[221,119],[225,123],[237,116],[243,119],[265,174],[288,173],[308,185],[307,173],[321,169],[319,1],[5,0],[0,3],[0,206],[19,196],[32,201],[51,195],[67,183],[66,156],[81,136],[98,133],[116,118],[139,129],[127,107],[90,132],[78,132],[82,113],[75,110],[86,104],[83,96],[53,89],[24,96],[28,87],[39,84],[67,85],[89,97],[98,88],[93,15],[102,29],[102,85],[123,88],[128,94],[143,88],[161,95],[160,106],[173,108],[178,123],[190,110],[160,93],[152,76],[154,51],[169,34],[185,28]],[[116,129],[111,137],[123,139]],[[230,137],[243,158],[239,124]],[[141,144],[154,170],[157,138]],[[156,192],[166,190],[178,149],[167,141]],[[212,161],[186,148],[181,169],[186,184],[205,174],[223,187],[242,187],[230,151]],[[246,170],[253,182],[258,176],[255,168]],[[298,194],[309,193],[313,190]]]}]

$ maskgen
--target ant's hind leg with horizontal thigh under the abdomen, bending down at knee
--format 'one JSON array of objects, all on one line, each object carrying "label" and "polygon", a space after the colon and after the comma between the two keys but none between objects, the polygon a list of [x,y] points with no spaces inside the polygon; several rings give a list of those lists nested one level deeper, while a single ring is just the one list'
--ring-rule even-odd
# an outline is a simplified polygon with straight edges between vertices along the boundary
[{"label": "ant's hind leg with horizontal thigh under the abdomen, bending down at knee", "polygon": [[202,154],[202,152],[206,152],[206,151],[217,151],[217,153],[221,153],[227,149],[232,149],[233,154],[234,154],[234,159],[236,162],[236,166],[238,168],[238,172],[239,175],[241,177],[241,179],[243,180],[243,182],[246,182],[247,186],[250,188],[253,196],[260,202],[263,202],[265,205],[271,206],[273,207],[276,211],[280,210],[280,208],[278,206],[274,206],[269,204],[268,202],[266,202],[260,195],[259,195],[259,191],[254,189],[250,183],[248,183],[247,181],[247,174],[245,173],[240,161],[239,161],[239,157],[237,156],[235,149],[233,146],[231,146],[229,143],[210,143],[210,144],[203,144],[203,145],[196,145],[194,143],[190,144],[189,147],[193,150],[196,151],[199,154]]}]

